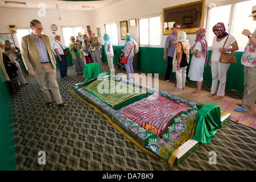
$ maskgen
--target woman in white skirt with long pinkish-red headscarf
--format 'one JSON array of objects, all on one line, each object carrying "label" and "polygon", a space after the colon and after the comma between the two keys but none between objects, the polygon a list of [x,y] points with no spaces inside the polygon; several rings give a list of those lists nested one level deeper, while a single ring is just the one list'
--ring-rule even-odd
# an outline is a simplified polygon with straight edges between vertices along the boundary
[{"label": "woman in white skirt with long pinkish-red headscarf", "polygon": [[196,31],[196,43],[190,48],[193,56],[188,77],[192,81],[197,81],[197,89],[191,92],[191,96],[200,96],[201,94],[204,67],[207,65],[208,61],[208,44],[207,40],[205,40],[205,33],[206,30],[204,28],[199,28],[199,30]]}]

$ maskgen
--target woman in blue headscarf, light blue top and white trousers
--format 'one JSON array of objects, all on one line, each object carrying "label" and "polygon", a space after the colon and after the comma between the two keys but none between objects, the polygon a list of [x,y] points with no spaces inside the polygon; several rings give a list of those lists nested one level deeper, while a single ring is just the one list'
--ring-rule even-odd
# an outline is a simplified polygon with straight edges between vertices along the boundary
[{"label": "woman in blue headscarf, light blue top and white trousers", "polygon": [[105,55],[107,57],[108,60],[108,65],[109,65],[109,69],[110,69],[110,74],[113,75],[114,74],[114,64],[113,64],[113,58],[114,58],[114,52],[113,52],[113,47],[112,44],[110,42],[110,36],[109,34],[104,34],[103,39],[105,40]]}]

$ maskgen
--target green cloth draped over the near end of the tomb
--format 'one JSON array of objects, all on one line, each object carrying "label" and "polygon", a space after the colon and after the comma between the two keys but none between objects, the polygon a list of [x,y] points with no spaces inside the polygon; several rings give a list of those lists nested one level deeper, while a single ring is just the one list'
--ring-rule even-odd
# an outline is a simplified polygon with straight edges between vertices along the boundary
[{"label": "green cloth draped over the near end of the tomb", "polygon": [[213,103],[205,105],[196,113],[193,139],[201,143],[209,143],[221,127],[220,106]]}]

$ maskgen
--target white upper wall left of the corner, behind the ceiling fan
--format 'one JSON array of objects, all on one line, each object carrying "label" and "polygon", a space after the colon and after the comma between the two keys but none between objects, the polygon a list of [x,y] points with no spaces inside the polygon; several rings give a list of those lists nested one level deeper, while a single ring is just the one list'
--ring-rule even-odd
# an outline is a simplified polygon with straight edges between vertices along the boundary
[{"label": "white upper wall left of the corner, behind the ceiling fan", "polygon": [[[67,20],[56,20],[53,17],[58,17],[57,10],[46,10],[46,16],[39,16],[38,10],[36,9],[7,9],[0,8],[0,33],[10,33],[9,24],[15,24],[17,28],[30,27],[32,19],[38,19],[42,22],[43,33],[51,36],[51,24],[56,24],[58,29],[56,34],[61,33],[61,26],[86,26],[92,24],[92,13],[91,11],[61,11],[59,10],[60,17]],[[14,37],[15,39],[15,37]],[[15,40],[14,40],[15,41]],[[15,41],[15,43],[17,43]]]}]

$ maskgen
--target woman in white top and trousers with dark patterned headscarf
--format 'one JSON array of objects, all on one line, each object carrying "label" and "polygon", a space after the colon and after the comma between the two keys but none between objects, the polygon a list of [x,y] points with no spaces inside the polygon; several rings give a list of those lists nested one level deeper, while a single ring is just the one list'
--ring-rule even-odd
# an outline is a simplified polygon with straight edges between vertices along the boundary
[{"label": "woman in white top and trousers with dark patterned headscarf", "polygon": [[[216,35],[213,38],[212,43],[212,55],[210,56],[209,65],[212,67],[212,88],[210,89],[210,94],[208,97],[214,99],[222,98],[225,95],[226,86],[226,72],[229,69],[228,63],[220,63],[220,55],[222,52],[237,51],[237,41],[233,35],[229,35],[226,32],[224,23],[217,23],[212,28],[213,33]],[[223,47],[225,41],[227,40],[225,47]],[[218,86],[218,80],[220,85]],[[218,87],[218,90],[217,90]],[[216,94],[217,90],[217,95]]]}]

